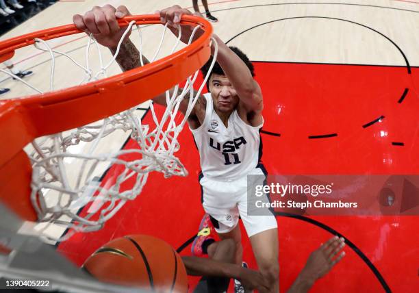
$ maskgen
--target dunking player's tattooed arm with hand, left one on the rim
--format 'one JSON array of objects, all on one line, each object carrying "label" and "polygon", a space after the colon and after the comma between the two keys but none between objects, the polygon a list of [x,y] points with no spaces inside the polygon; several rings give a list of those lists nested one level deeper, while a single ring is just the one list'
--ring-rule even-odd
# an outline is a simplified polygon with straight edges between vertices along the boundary
[{"label": "dunking player's tattooed arm with hand, left one on the rim", "polygon": [[[120,28],[118,25],[118,18],[131,15],[128,9],[121,5],[118,8],[114,8],[112,5],[104,5],[103,7],[94,6],[92,10],[89,10],[81,16],[75,14],[73,16],[73,22],[76,27],[81,31],[86,31],[87,34],[92,33],[94,38],[99,44],[110,49],[112,54],[116,53],[118,42],[122,38],[125,28]],[[119,53],[116,56],[116,62],[118,62],[120,68],[123,71],[129,71],[131,69],[141,66],[141,55],[136,46],[129,40],[129,34],[125,37],[125,40],[120,45]],[[149,64],[149,60],[142,56],[143,64]],[[170,90],[170,94],[173,90]],[[188,108],[189,92],[186,94],[185,99],[181,102],[179,111],[183,114],[186,113]],[[203,107],[205,109],[205,99],[200,97],[200,101],[196,102],[196,107]],[[153,101],[160,105],[166,105],[166,94],[163,92],[157,97],[153,98]],[[194,119],[195,108],[192,109],[190,114],[191,119]]]}]

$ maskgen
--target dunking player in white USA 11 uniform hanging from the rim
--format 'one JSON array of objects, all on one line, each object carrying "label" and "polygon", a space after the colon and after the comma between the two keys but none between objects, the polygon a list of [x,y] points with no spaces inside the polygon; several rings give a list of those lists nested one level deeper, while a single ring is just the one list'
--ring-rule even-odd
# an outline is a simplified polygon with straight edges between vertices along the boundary
[{"label": "dunking player in white USA 11 uniform hanging from the rim", "polygon": [[[158,13],[176,36],[181,15],[192,14],[179,5]],[[84,16],[76,14],[73,21],[79,29],[92,32],[100,44],[115,53],[124,31],[118,27],[116,18],[126,15],[129,12],[125,6],[118,9],[111,5],[96,6]],[[187,43],[191,33],[191,27],[182,26],[181,40]],[[238,226],[239,216],[242,218],[259,270],[268,281],[270,291],[279,292],[275,216],[249,216],[247,213],[247,175],[264,174],[263,166],[258,165],[262,143],[259,129],[264,123],[262,91],[253,79],[253,66],[246,55],[227,47],[215,34],[213,38],[218,43],[218,55],[207,83],[210,94],[199,97],[188,118],[201,157],[203,207],[212,216],[220,238],[231,238],[236,242],[238,264],[242,263]],[[128,37],[123,41],[116,61],[123,71],[140,66],[140,54]],[[161,94],[153,101],[165,105],[166,96]],[[179,107],[183,114],[187,105],[185,99]]]}]

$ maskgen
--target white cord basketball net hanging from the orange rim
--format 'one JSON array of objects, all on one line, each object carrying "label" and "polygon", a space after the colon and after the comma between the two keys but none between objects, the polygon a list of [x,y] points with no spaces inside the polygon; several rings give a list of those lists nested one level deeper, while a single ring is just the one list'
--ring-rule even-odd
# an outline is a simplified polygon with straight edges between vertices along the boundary
[{"label": "white cord basketball net hanging from the orange rim", "polygon": [[[118,44],[115,55],[105,65],[99,50],[99,44],[91,35],[86,46],[86,66],[79,64],[66,53],[51,49],[44,40],[37,39],[34,44],[36,49],[48,51],[51,55],[51,91],[54,90],[55,55],[66,56],[76,66],[83,69],[85,76],[80,84],[97,80],[100,77],[107,77],[107,68],[115,62],[120,44],[134,25],[136,25],[134,21],[129,24]],[[138,49],[142,56],[142,32],[138,25],[136,27],[140,37]],[[199,29],[199,26],[194,28],[189,43],[192,42],[197,29]],[[164,26],[159,47],[150,62],[155,61],[157,55],[159,55],[164,44],[166,30],[167,24]],[[179,26],[179,36],[177,36],[171,53],[177,49],[180,38],[181,28]],[[101,68],[96,73],[89,66],[90,44],[94,44],[97,47],[97,52],[99,52]],[[215,53],[208,73],[214,66],[217,54],[217,43],[214,40],[212,40],[212,45],[214,45]],[[144,64],[142,58],[141,64]],[[12,75],[8,71],[3,71],[3,73]],[[139,116],[136,107],[134,107],[97,123],[84,125],[53,136],[38,138],[32,142],[33,150],[28,153],[33,167],[31,201],[40,221],[49,222],[49,225],[54,223],[70,228],[69,232],[58,240],[66,240],[78,231],[95,231],[103,227],[103,223],[112,218],[127,201],[136,199],[147,181],[149,172],[162,172],[165,177],[188,175],[185,166],[177,159],[175,153],[180,148],[177,137],[209,76],[208,74],[205,77],[199,90],[194,91],[193,84],[198,73],[199,71],[196,71],[194,75],[186,79],[183,89],[177,85],[173,88],[171,94],[169,90],[166,91],[167,107],[162,117],[157,117],[153,103],[150,104],[155,125],[142,125],[143,113]],[[42,93],[38,88],[31,86],[16,75],[12,76]],[[181,123],[176,123],[175,117],[180,102],[187,94],[190,96],[188,110]],[[123,149],[114,153],[98,152],[102,140],[115,131],[130,133],[131,139],[138,144],[138,149]],[[77,148],[77,145],[86,143],[88,143],[88,146],[84,148],[84,152],[73,151],[75,147]],[[69,170],[68,161],[77,161],[78,170]],[[95,171],[98,166],[103,166],[103,164],[116,166],[118,175],[106,182],[95,181],[94,175],[97,175]],[[92,203],[92,205],[90,205],[88,212],[84,216],[80,216],[78,214],[79,209],[89,203]],[[47,227],[48,225],[45,229]]]}]

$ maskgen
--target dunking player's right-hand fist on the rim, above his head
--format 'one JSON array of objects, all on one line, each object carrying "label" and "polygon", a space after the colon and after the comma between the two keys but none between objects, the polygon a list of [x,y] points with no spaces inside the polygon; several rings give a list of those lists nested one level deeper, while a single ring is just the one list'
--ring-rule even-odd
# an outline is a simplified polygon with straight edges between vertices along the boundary
[{"label": "dunking player's right-hand fist on the rim, above his head", "polygon": [[[160,14],[160,20],[165,25],[168,24],[168,28],[170,31],[175,34],[175,36],[179,35],[178,25],[181,21],[182,15],[196,15],[202,17],[202,15],[199,12],[195,12],[192,14],[189,10],[185,8],[181,8],[179,5],[174,5],[172,7],[166,8],[164,10],[156,11],[156,14]],[[181,41],[185,44],[188,44],[190,36],[192,34],[192,31],[194,30],[194,27],[190,25],[181,25]],[[202,29],[198,29],[194,34],[194,40],[201,36],[203,34]]]}]

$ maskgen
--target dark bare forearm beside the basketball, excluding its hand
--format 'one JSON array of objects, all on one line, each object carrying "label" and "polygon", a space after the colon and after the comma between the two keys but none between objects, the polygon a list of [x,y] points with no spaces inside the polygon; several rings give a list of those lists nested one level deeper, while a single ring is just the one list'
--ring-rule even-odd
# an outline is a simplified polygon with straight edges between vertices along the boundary
[{"label": "dark bare forearm beside the basketball, excluding its hand", "polygon": [[182,257],[188,275],[240,279],[240,266],[203,257]]}]

